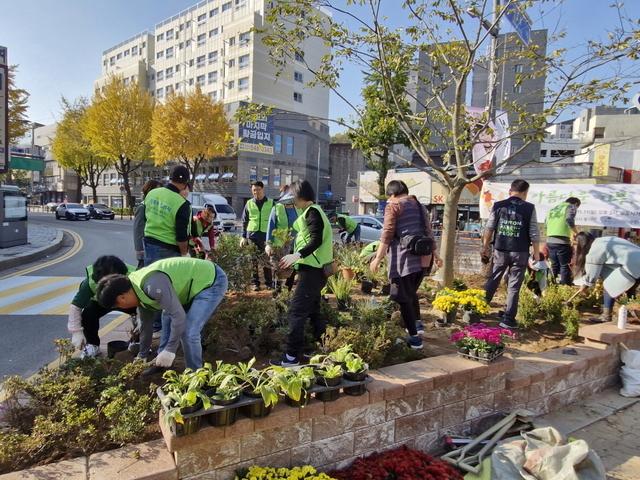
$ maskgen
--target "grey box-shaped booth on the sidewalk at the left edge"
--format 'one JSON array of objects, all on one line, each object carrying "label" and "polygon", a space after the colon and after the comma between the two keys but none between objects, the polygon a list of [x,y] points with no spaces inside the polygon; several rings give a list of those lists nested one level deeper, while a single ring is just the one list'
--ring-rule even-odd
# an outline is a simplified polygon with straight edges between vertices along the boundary
[{"label": "grey box-shaped booth on the sidewalk at the left edge", "polygon": [[0,186],[0,248],[27,243],[27,197],[18,187]]}]

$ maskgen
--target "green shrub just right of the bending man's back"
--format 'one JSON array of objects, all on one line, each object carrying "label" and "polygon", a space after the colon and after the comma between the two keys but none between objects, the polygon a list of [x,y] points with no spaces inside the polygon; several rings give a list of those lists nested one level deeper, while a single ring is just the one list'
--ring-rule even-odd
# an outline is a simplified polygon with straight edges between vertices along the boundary
[{"label": "green shrub just right of the bending man's back", "polygon": [[259,255],[255,245],[240,247],[238,235],[220,235],[216,248],[211,250],[210,258],[227,274],[229,290],[244,292],[253,279],[253,262]]}]

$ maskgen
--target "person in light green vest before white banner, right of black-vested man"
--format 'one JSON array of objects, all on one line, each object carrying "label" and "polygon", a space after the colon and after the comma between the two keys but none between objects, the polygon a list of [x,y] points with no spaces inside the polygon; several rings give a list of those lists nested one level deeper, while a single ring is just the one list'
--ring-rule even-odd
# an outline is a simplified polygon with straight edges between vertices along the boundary
[{"label": "person in light green vest before white banner, right of black-vested man", "polygon": [[580,199],[569,197],[556,205],[547,214],[545,226],[547,230],[547,248],[554,278],[560,275],[560,284],[571,285],[571,259],[573,248],[571,237],[578,234],[576,228],[576,212],[580,207]]}]

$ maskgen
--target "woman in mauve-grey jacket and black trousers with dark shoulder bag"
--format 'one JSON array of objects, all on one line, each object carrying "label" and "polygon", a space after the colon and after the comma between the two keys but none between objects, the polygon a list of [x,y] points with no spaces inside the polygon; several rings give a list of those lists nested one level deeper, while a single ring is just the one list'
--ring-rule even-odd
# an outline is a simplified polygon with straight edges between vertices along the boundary
[{"label": "woman in mauve-grey jacket and black trousers with dark shoulder bag", "polygon": [[380,236],[380,246],[370,268],[376,272],[385,255],[388,258],[390,298],[400,305],[400,313],[409,333],[408,345],[421,349],[424,326],[420,320],[418,287],[432,262],[439,267],[436,242],[429,215],[418,199],[409,195],[407,184],[392,180],[387,184],[387,206]]}]

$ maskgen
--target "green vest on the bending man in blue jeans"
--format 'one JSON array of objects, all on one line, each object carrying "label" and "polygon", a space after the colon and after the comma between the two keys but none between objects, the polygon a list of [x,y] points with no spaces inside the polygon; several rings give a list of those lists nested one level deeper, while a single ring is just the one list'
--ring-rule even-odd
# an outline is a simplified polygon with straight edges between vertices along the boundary
[{"label": "green vest on the bending man in blue jeans", "polygon": [[153,262],[129,275],[140,306],[149,310],[162,310],[160,304],[148,297],[143,290],[146,278],[155,272],[162,272],[169,277],[182,305],[188,305],[197,294],[216,281],[216,265],[209,260],[172,257]]}]

